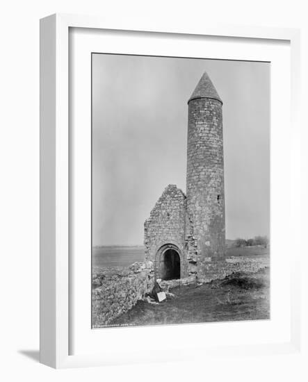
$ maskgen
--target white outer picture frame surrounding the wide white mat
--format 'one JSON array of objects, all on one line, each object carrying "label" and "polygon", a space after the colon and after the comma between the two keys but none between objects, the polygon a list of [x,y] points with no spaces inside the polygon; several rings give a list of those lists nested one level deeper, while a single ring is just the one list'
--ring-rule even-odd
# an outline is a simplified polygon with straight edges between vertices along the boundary
[{"label": "white outer picture frame surrounding the wide white mat", "polygon": [[[108,24],[106,20],[97,17],[81,15],[51,15],[40,22],[40,361],[56,368],[80,367],[91,365],[111,365],[136,362],[136,354],[129,354],[124,349],[121,356],[108,351],[95,353],[85,349],[79,354],[70,354],[70,128],[69,128],[69,31],[70,28],[88,28],[88,31],[140,31],[140,33],[161,33],[172,37],[177,35],[212,36],[231,39],[259,39],[287,41],[291,49],[291,136],[290,163],[292,166],[291,193],[296,194],[300,174],[295,170],[300,167],[298,156],[300,142],[296,139],[300,133],[300,33],[296,29],[284,28],[254,28],[248,26],[218,26],[207,24],[195,28],[162,26],[159,22],[145,28],[143,25],[127,23]],[[145,37],[146,38],[146,37]],[[291,206],[294,222],[291,235],[295,238],[299,231],[299,211],[296,204]],[[291,353],[300,349],[300,243],[294,247],[294,258],[291,261],[291,335],[289,340],[271,342],[268,344],[249,344],[249,346],[234,346],[229,343],[211,347],[211,354],[224,354],[232,351],[238,355]],[[89,297],[90,298],[90,297]],[[145,333],[146,328],[131,329]],[[162,330],[162,329],[159,329]],[[124,332],[122,332],[124,333]],[[104,333],[103,333],[104,335]],[[115,335],[115,331],[113,332]],[[110,341],[111,335],[108,336]],[[137,340],[138,341],[138,340]],[[186,344],[179,351],[168,355],[169,360],[183,358],[181,355]],[[108,348],[108,346],[107,346]],[[206,352],[202,346],[198,350]],[[157,352],[156,352],[157,353]],[[157,354],[152,360],[165,360],[165,354]],[[149,360],[144,354],[138,362]]]}]

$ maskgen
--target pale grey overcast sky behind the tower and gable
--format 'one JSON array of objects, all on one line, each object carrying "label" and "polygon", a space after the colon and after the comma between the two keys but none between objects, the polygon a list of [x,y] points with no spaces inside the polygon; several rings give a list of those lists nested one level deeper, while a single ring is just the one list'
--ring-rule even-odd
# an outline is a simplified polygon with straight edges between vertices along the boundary
[{"label": "pale grey overcast sky behind the tower and gable", "polygon": [[172,183],[186,192],[187,101],[206,71],[223,101],[226,238],[269,235],[270,64],[93,55],[93,244],[143,244]]}]

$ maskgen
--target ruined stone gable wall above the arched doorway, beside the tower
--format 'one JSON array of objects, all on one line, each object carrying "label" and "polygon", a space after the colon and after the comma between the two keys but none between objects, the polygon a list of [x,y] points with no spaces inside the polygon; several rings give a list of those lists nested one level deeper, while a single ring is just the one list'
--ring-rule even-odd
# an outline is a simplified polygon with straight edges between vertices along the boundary
[{"label": "ruined stone gable wall above the arched doorway, beside the tower", "polygon": [[185,194],[168,185],[145,221],[145,260],[154,262],[163,244],[175,244],[184,255],[185,219]]}]

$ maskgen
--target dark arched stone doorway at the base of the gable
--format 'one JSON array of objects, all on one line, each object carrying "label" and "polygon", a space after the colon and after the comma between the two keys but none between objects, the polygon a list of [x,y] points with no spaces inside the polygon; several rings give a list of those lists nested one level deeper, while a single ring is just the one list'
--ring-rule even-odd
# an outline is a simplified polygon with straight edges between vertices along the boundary
[{"label": "dark arched stone doorway at the base of the gable", "polygon": [[175,244],[165,244],[157,251],[156,279],[175,280],[181,278],[181,251]]}]

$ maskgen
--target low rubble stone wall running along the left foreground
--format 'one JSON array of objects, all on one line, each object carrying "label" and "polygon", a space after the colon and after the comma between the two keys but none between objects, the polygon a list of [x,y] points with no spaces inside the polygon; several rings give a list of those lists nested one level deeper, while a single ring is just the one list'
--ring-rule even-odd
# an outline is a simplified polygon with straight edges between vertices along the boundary
[{"label": "low rubble stone wall running along the left foreground", "polygon": [[92,272],[92,327],[108,325],[150,292],[154,284],[152,262],[130,267],[95,268]]}]

